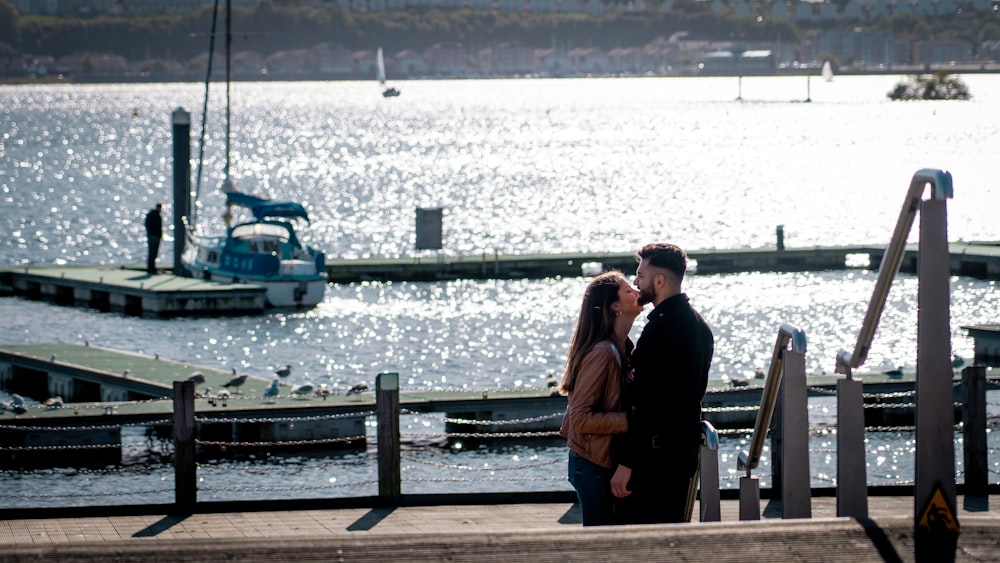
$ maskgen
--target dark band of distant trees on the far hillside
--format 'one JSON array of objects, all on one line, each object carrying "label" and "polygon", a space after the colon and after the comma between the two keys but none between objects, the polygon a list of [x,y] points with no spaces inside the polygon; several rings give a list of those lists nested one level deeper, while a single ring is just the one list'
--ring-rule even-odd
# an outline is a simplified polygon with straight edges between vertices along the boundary
[{"label": "dark band of distant trees on the far hillside", "polygon": [[[911,40],[965,39],[978,45],[987,38],[1000,39],[1000,21],[981,14],[938,18],[901,15],[859,25],[796,23],[774,18],[758,21],[713,13],[707,2],[695,0],[675,0],[670,12],[618,12],[611,6],[601,16],[475,10],[378,13],[308,8],[298,0],[263,0],[253,8],[234,8],[233,47],[264,56],[323,42],[339,43],[349,49],[381,45],[389,52],[424,50],[445,41],[460,42],[472,49],[502,42],[611,49],[643,46],[678,31],[687,31],[691,39],[794,42],[838,26],[885,29]],[[118,54],[133,61],[166,59],[183,63],[207,50],[211,17],[211,8],[206,7],[185,15],[19,20],[10,0],[0,0],[0,42],[9,42],[20,52],[56,57],[87,50]],[[221,21],[217,32],[221,32]]]}]

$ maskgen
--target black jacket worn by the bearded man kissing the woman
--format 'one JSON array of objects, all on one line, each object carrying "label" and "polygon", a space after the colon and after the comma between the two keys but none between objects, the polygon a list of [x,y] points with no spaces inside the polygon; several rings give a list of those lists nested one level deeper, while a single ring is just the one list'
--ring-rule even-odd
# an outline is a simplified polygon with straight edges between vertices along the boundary
[{"label": "black jacket worn by the bearded man kissing the woman", "polygon": [[619,462],[636,470],[669,457],[686,466],[697,460],[715,339],[683,293],[660,303],[647,319],[632,354],[633,379],[624,390],[629,428]]}]

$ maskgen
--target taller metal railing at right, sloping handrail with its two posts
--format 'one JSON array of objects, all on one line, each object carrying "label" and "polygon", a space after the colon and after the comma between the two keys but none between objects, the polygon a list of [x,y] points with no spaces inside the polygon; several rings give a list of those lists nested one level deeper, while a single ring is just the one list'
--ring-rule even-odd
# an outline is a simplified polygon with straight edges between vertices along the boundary
[{"label": "taller metal railing at right, sloping handrail with its two posts", "polygon": [[[930,198],[923,200],[930,186]],[[909,189],[886,248],[879,276],[868,302],[868,310],[858,331],[854,351],[837,353],[836,372],[847,377],[837,382],[837,515],[866,518],[868,493],[864,452],[864,409],[862,385],[853,370],[864,364],[875,330],[885,308],[892,282],[899,273],[906,251],[906,239],[917,212],[921,213],[918,259],[917,306],[917,424],[924,420],[923,439],[917,431],[918,447],[916,501],[923,503],[940,490],[954,505],[955,476],[953,444],[947,432],[953,407],[945,387],[950,385],[950,289],[948,256],[947,200],[953,197],[951,174],[924,168],[910,180]],[[919,391],[923,390],[922,393]],[[920,406],[923,405],[923,409]],[[948,465],[950,464],[950,467]],[[925,479],[921,479],[921,474]],[[919,519],[919,516],[915,516]]]}]

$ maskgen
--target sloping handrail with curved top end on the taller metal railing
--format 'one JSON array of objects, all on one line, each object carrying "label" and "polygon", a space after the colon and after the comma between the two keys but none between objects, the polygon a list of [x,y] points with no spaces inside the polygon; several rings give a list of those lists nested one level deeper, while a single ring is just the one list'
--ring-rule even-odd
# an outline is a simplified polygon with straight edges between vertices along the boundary
[{"label": "sloping handrail with curved top end on the taller metal railing", "polygon": [[931,186],[932,199],[950,199],[954,196],[950,172],[922,168],[910,180],[910,189],[906,192],[903,208],[899,212],[899,218],[896,219],[896,229],[892,233],[889,246],[886,247],[882,264],[879,265],[878,281],[875,282],[875,290],[872,292],[871,301],[868,302],[868,311],[865,313],[865,320],[858,332],[858,341],[854,345],[854,352],[843,349],[837,352],[835,372],[846,374],[848,379],[851,378],[851,370],[860,367],[868,359],[868,351],[871,349],[875,329],[878,328],[879,319],[882,317],[889,288],[892,287],[892,280],[896,277],[899,267],[903,263],[906,238],[913,227],[913,219],[920,205],[920,197],[928,184]]}]

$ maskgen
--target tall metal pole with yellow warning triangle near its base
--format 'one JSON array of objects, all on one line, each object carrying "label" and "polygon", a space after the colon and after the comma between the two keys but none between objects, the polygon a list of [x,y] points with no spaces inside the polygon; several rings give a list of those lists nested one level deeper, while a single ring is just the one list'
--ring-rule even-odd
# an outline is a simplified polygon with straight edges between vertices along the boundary
[{"label": "tall metal pole with yellow warning triangle near its base", "polygon": [[[918,560],[941,560],[957,538],[955,512],[954,378],[947,200],[920,204],[917,264],[917,412],[914,526]],[[951,551],[954,557],[954,551]]]}]

